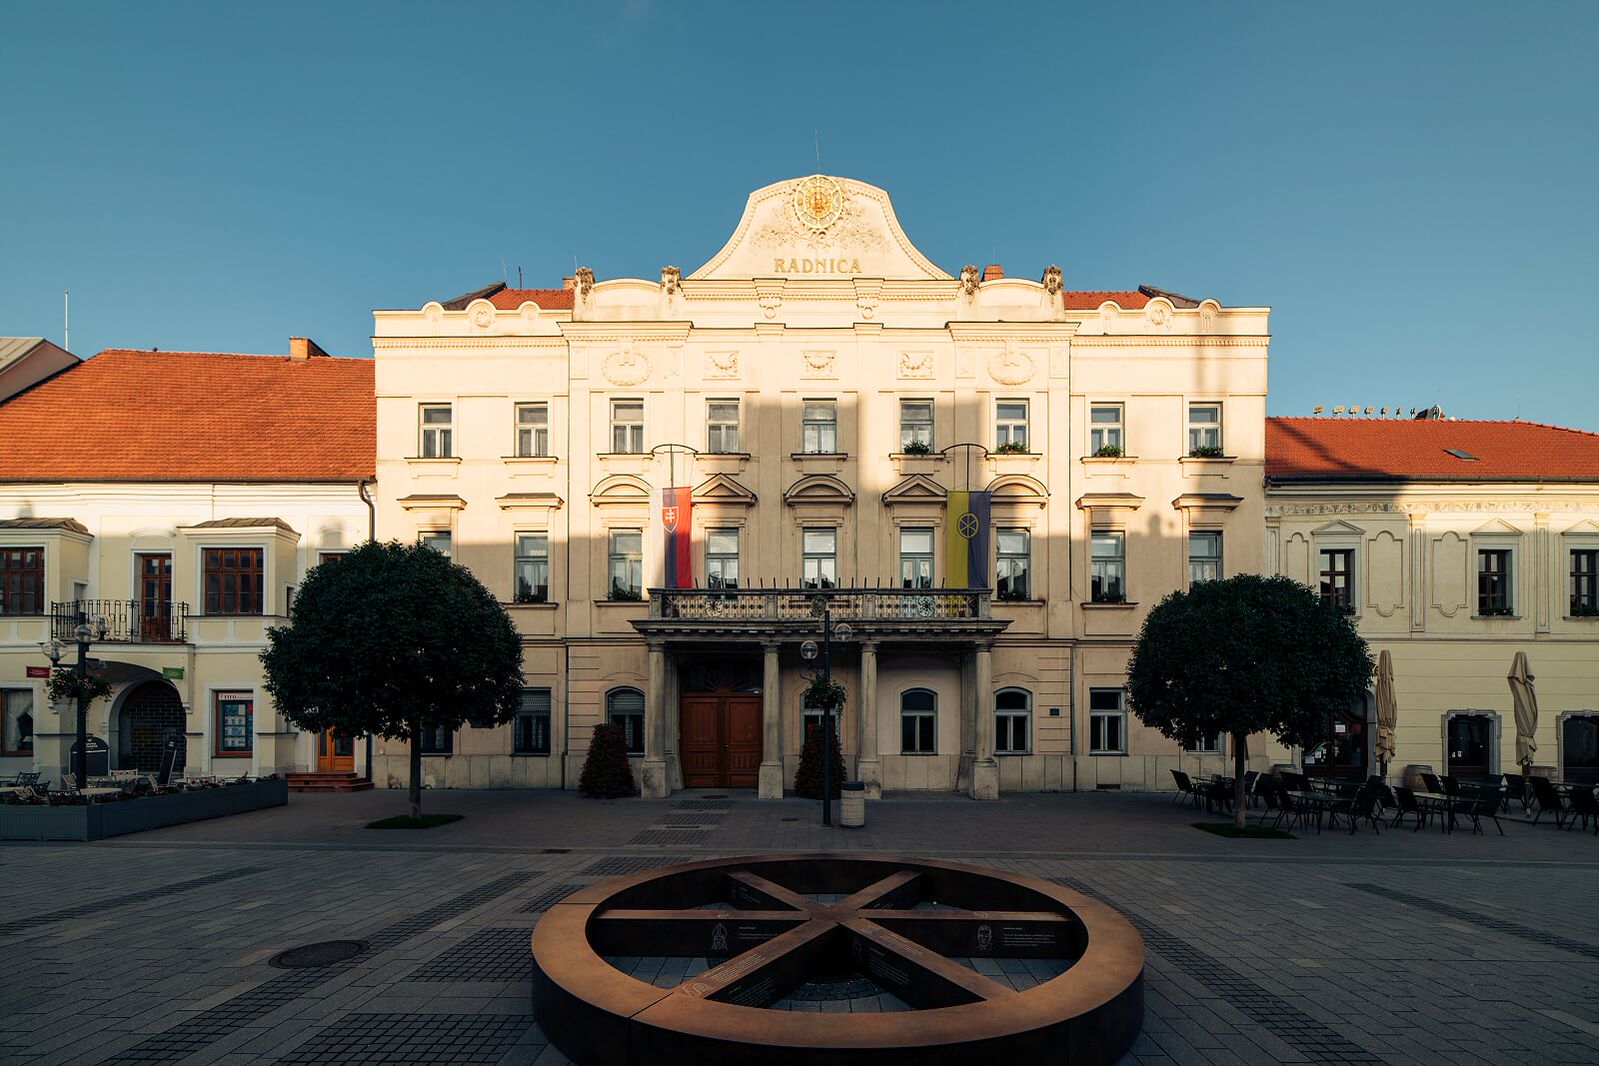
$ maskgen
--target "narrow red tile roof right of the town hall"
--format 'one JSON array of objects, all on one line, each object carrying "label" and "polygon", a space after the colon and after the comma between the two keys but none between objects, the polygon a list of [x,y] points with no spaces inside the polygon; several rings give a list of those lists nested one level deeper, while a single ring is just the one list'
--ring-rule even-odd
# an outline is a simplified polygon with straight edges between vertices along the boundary
[{"label": "narrow red tile roof right of the town hall", "polygon": [[[1463,451],[1461,459],[1445,449]],[[1266,419],[1289,481],[1599,481],[1599,433],[1473,419]]]}]

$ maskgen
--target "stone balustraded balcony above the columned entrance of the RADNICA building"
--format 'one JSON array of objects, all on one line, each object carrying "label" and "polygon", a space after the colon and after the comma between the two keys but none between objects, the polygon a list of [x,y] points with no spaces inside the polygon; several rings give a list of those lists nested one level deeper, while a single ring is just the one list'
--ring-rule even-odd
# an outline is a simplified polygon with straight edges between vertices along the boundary
[{"label": "stone balustraded balcony above the columned entrance of the RADNICA building", "polygon": [[657,636],[814,636],[825,595],[833,623],[859,639],[916,636],[991,638],[1009,623],[995,619],[990,588],[652,588],[649,617],[633,622]]}]

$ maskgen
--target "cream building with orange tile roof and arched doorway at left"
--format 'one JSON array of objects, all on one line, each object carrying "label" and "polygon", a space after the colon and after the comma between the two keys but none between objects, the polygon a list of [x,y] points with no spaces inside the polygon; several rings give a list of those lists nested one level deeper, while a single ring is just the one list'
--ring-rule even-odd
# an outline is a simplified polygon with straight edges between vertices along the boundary
[{"label": "cream building with orange tile roof and arched doorway at left", "polygon": [[[109,769],[365,772],[261,684],[265,631],[310,566],[366,540],[373,364],[110,350],[0,403],[0,775],[69,769],[77,711],[46,695],[51,639],[104,622],[90,706]],[[94,766],[91,759],[91,767]]]}]

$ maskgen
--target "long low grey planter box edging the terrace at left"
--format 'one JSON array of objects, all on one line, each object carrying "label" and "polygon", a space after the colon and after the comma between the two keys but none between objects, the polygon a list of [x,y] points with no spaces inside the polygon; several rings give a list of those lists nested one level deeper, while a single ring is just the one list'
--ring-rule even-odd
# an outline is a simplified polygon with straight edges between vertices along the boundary
[{"label": "long low grey planter box edging the terrace at left", "polygon": [[173,796],[144,796],[82,807],[0,805],[0,841],[101,841],[185,821],[281,807],[288,778],[222,785]]}]

